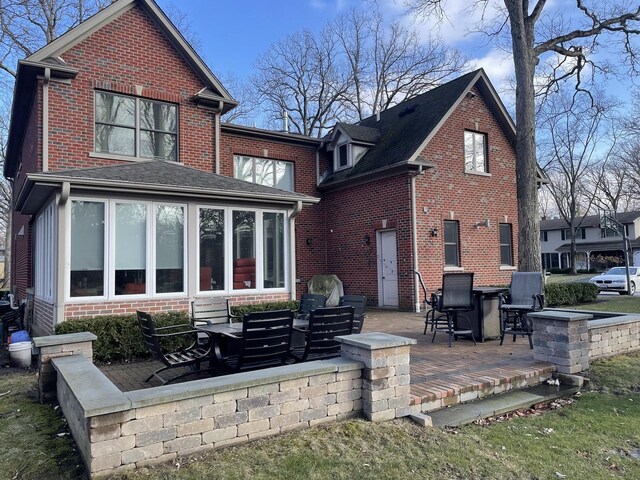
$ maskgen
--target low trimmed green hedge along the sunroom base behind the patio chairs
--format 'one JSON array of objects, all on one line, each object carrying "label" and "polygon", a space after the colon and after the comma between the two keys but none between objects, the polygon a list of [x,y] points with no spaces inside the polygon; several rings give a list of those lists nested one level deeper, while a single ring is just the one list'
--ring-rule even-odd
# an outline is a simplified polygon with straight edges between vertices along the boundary
[{"label": "low trimmed green hedge along the sunroom base behind the patio chairs", "polygon": [[[266,302],[254,305],[232,306],[234,315],[245,315],[249,312],[266,310],[295,310],[298,302]],[[153,314],[159,327],[189,324],[189,313],[168,312]],[[151,352],[142,340],[138,319],[132,315],[102,315],[81,319],[67,320],[56,326],[56,334],[91,332],[98,339],[93,343],[93,358],[98,362],[128,361],[135,358],[149,358]],[[161,344],[167,351],[188,346],[188,336],[163,339]]]}]

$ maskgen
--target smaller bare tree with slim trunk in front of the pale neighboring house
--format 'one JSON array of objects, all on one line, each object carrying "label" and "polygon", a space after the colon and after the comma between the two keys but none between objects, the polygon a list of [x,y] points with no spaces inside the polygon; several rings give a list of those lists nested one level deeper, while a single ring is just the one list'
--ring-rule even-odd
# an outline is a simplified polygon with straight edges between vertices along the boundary
[{"label": "smaller bare tree with slim trunk in front of the pale neighboring house", "polygon": [[[576,273],[576,232],[598,195],[587,174],[602,172],[615,143],[609,136],[612,104],[586,93],[561,91],[549,97],[540,115],[540,159],[561,218],[569,227],[571,273]],[[599,183],[599,179],[596,179]]]}]

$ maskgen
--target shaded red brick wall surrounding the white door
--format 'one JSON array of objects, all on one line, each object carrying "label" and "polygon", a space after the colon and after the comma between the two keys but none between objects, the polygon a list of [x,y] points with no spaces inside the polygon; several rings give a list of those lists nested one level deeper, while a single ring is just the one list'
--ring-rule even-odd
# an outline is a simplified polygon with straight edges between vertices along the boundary
[{"label": "shaded red brick wall surrounding the white door", "polygon": [[[327,273],[342,280],[349,295],[365,295],[378,305],[378,265],[376,232],[396,230],[398,292],[402,308],[411,308],[410,179],[401,176],[377,180],[325,194]],[[369,236],[367,245],[365,236]]]}]

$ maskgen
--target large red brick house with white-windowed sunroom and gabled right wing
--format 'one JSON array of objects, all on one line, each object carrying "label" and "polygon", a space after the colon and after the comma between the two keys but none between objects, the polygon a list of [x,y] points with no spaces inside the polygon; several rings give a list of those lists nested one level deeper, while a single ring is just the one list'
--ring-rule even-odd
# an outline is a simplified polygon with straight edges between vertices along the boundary
[{"label": "large red brick house with white-windowed sunroom and gabled right wing", "polygon": [[20,62],[5,177],[35,329],[297,298],[337,274],[414,308],[414,269],[507,284],[515,129],[478,70],[324,138],[220,122],[237,102],[152,0],[118,0]]}]

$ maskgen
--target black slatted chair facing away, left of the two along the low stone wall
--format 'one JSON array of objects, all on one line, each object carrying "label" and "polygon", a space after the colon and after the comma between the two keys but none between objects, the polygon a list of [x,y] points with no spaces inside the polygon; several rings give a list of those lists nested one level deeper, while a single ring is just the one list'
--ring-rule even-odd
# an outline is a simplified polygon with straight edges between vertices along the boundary
[{"label": "black slatted chair facing away, left of the two along the low stone wall", "polygon": [[216,345],[216,357],[228,372],[284,365],[291,349],[292,331],[291,310],[248,313],[242,322],[242,334],[221,334],[236,341],[237,353],[225,357]]}]

